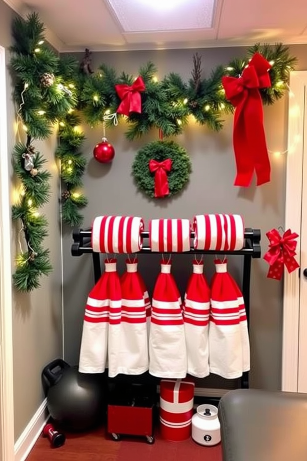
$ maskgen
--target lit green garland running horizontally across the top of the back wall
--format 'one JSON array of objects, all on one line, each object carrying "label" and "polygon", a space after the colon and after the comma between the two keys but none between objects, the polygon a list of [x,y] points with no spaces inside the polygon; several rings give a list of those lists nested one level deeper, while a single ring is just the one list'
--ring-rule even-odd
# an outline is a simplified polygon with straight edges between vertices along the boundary
[{"label": "lit green garland running horizontally across the top of the back wall", "polygon": [[[133,112],[129,117],[124,117],[128,123],[127,139],[132,141],[152,128],[161,130],[164,136],[179,135],[191,116],[198,124],[220,130],[223,127],[222,116],[234,110],[226,100],[221,78],[224,75],[239,77],[256,51],[272,65],[269,71],[272,86],[260,90],[263,103],[272,104],[281,98],[288,90],[290,71],[294,70],[296,64],[296,58],[282,44],[256,44],[249,48],[244,59],[234,59],[226,67],[216,67],[209,77],[203,77],[201,57],[195,54],[188,83],[175,73],[158,81],[157,69],[149,62],[139,69],[146,87],[141,93],[142,112]],[[115,69],[104,64],[85,80],[81,107],[88,124],[101,124],[106,113],[116,113],[121,102],[115,90],[115,85],[119,83],[131,85],[133,77],[124,72],[117,76]],[[121,115],[118,117],[123,118]],[[112,121],[108,123],[112,124]]]}]

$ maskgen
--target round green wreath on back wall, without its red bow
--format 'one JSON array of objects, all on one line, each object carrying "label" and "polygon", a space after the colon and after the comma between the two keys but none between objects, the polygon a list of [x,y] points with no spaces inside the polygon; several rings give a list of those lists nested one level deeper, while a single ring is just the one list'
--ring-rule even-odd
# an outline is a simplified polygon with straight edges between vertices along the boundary
[{"label": "round green wreath on back wall, without its red bow", "polygon": [[177,194],[189,181],[191,160],[186,150],[174,141],[150,142],[139,150],[132,165],[132,173],[138,189],[149,197],[155,198],[155,174],[149,170],[151,159],[158,162],[172,160],[172,168],[168,173],[169,194],[166,197]]}]

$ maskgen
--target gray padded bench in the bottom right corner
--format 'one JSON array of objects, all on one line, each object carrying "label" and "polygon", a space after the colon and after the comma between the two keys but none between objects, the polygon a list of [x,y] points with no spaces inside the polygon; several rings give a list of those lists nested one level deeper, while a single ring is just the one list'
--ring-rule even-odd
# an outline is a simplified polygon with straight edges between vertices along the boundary
[{"label": "gray padded bench in the bottom right corner", "polygon": [[307,394],[233,390],[219,419],[223,461],[307,461]]}]

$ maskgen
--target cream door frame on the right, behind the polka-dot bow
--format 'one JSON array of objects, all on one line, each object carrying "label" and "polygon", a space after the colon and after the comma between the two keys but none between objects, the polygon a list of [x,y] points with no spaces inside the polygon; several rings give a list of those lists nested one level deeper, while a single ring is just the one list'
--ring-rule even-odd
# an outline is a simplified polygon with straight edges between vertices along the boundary
[{"label": "cream door frame on the right, behind the polka-dot bow", "polygon": [[[301,203],[303,185],[304,114],[307,103],[307,71],[290,74],[288,111],[288,153],[286,173],[285,230],[297,239],[296,260],[301,263]],[[305,151],[305,152],[304,152]],[[300,320],[300,271],[284,273],[282,390],[298,391]]]}]

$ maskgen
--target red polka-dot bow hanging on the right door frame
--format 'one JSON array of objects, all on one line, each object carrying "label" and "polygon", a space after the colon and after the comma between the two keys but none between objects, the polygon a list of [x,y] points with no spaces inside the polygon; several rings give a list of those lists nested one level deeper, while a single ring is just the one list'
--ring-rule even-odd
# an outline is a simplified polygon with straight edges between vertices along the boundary
[{"label": "red polka-dot bow hanging on the right door frame", "polygon": [[297,242],[294,239],[298,237],[298,234],[292,233],[288,229],[281,236],[277,229],[272,229],[266,233],[266,236],[270,242],[269,249],[263,256],[263,259],[270,265],[267,277],[280,280],[284,272],[284,266],[286,266],[289,273],[300,267],[295,260]]}]

